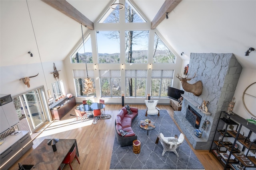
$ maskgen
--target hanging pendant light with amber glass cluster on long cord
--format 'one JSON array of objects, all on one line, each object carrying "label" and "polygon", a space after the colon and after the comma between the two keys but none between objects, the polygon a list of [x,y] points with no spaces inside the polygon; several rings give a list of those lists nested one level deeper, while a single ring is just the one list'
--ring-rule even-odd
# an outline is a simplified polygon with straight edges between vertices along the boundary
[{"label": "hanging pendant light with amber glass cluster on long cord", "polygon": [[[82,24],[81,24],[81,29],[82,29],[82,39],[83,39],[83,46],[84,46],[84,34],[83,34],[83,27],[82,27]],[[85,94],[86,96],[88,96],[88,94],[92,94],[93,92],[95,92],[96,89],[93,88],[93,82],[92,82],[91,78],[89,78],[89,76],[88,76],[87,63],[86,63],[86,55],[85,55],[85,48],[84,48],[84,56],[85,56],[85,66],[86,66],[87,78],[84,78],[83,94]]]}]

